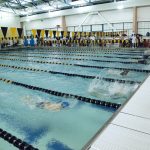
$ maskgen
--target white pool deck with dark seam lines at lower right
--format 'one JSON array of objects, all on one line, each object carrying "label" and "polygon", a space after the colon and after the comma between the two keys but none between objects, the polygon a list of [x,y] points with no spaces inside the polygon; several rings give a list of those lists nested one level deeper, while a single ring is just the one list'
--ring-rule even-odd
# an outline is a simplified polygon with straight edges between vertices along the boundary
[{"label": "white pool deck with dark seam lines at lower right", "polygon": [[88,149],[150,150],[150,76]]}]

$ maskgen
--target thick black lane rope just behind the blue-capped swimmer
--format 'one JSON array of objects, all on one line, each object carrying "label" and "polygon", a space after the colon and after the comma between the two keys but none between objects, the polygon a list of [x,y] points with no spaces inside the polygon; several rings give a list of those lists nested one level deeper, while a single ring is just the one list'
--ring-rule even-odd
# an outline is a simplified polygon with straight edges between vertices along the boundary
[{"label": "thick black lane rope just behind the blue-capped swimmer", "polygon": [[24,88],[27,88],[30,90],[34,90],[34,91],[36,90],[36,91],[44,92],[46,94],[50,94],[50,95],[54,95],[54,96],[58,96],[58,97],[74,98],[74,99],[77,99],[77,100],[82,101],[82,102],[91,103],[91,104],[99,105],[99,106],[106,107],[106,108],[111,108],[113,110],[117,110],[121,106],[121,104],[117,104],[117,103],[87,98],[87,97],[74,95],[74,94],[62,93],[59,91],[53,91],[50,89],[32,86],[32,85],[28,85],[28,84],[24,84],[24,83],[12,81],[12,80],[4,79],[4,78],[0,78],[0,81],[3,81],[7,84],[13,84],[15,86],[24,87]]}]

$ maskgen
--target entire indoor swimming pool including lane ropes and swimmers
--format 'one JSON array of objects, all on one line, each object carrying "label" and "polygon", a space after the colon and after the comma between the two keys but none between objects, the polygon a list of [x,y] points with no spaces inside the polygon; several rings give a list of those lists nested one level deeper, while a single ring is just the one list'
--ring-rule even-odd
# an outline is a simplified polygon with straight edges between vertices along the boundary
[{"label": "entire indoor swimming pool including lane ropes and swimmers", "polygon": [[[0,51],[0,128],[39,150],[80,150],[150,72],[140,50]],[[16,150],[0,139],[0,149]]]}]

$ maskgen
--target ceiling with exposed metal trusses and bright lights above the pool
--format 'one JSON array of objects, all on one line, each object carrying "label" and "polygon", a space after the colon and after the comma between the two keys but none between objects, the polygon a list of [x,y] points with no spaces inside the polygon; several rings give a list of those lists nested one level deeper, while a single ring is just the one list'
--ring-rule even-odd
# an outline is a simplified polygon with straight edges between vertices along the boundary
[{"label": "ceiling with exposed metal trusses and bright lights above the pool", "polygon": [[124,0],[0,0],[0,11],[27,16],[117,1]]}]

